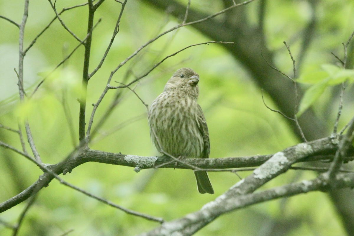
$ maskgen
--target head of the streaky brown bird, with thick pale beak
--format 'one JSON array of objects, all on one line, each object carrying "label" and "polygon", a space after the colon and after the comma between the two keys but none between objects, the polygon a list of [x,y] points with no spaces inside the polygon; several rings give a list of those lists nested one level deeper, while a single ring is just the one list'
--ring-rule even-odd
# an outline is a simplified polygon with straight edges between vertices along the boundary
[{"label": "head of the streaky brown bird, with thick pale beak", "polygon": [[190,68],[181,68],[177,70],[167,81],[164,92],[185,92],[189,96],[198,98],[199,88],[199,75]]}]

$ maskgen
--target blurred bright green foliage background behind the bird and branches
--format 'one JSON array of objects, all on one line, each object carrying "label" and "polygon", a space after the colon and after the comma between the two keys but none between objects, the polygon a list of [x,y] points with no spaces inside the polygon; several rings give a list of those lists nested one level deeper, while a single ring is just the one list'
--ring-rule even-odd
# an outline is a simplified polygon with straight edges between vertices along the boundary
[{"label": "blurred bright green foliage background behind the bird and branches", "polygon": [[[187,4],[186,1],[181,1]],[[311,18],[311,1],[268,1],[264,22],[265,35],[270,50],[274,51],[276,67],[292,75],[292,62],[283,44],[287,41],[295,56],[301,50],[300,33]],[[81,4],[82,1],[59,0],[58,11],[63,7]],[[242,6],[249,19],[258,18],[259,1]],[[0,15],[20,23],[23,1],[0,1]],[[213,13],[222,9],[219,1],[192,1],[191,8]],[[354,4],[349,0],[319,1],[316,7],[317,24],[314,39],[302,71],[318,69],[323,63],[334,63],[330,52],[343,55],[342,42],[346,42],[354,30]],[[106,0],[96,12],[95,22],[102,18],[93,31],[90,58],[92,71],[112,37],[120,4]],[[29,17],[25,28],[25,47],[51,21],[55,13],[47,1],[30,1]],[[223,16],[219,16],[220,18]],[[62,19],[79,38],[86,35],[87,7],[79,7],[63,13]],[[92,103],[96,103],[109,77],[118,66],[139,46],[164,30],[180,22],[141,1],[128,1],[120,22],[120,31],[102,68],[89,81],[86,121]],[[0,19],[0,123],[17,129],[18,122],[28,117],[35,144],[44,163],[57,163],[78,144],[78,115],[80,84],[84,47],[59,67],[39,88],[30,102],[19,105],[17,76],[18,29]],[[114,81],[132,81],[144,74],[165,56],[181,48],[210,41],[192,27],[169,33],[144,48],[135,58],[124,65],[114,76]],[[51,71],[78,44],[72,36],[55,21],[28,51],[24,65],[26,91]],[[252,47],[252,45],[250,45]],[[260,53],[260,52],[259,52]],[[289,129],[282,116],[268,110],[263,102],[261,88],[252,81],[249,71],[236,61],[221,45],[200,45],[167,59],[136,85],[136,92],[150,104],[163,90],[172,73],[190,67],[200,75],[199,104],[209,127],[210,158],[237,157],[269,154],[295,145],[300,140]],[[286,79],[284,77],[284,79]],[[150,142],[146,109],[129,90],[121,89],[119,104],[107,117],[104,125],[92,139],[90,148],[123,154],[158,155]],[[350,91],[350,90],[349,90]],[[110,90],[99,105],[94,123],[102,118],[117,91]],[[328,134],[333,126],[336,109],[327,113],[328,101],[332,99],[330,88],[316,103],[317,114],[326,117]],[[289,94],[293,96],[293,94]],[[337,98],[336,98],[337,99]],[[346,98],[347,99],[347,98]],[[265,94],[265,101],[276,109],[272,99]],[[340,127],[350,117],[345,100]],[[70,113],[74,139],[65,116],[63,104]],[[69,119],[70,120],[70,119]],[[18,136],[0,129],[0,140],[21,149]],[[30,150],[29,147],[28,151]],[[0,201],[15,196],[42,173],[32,162],[14,152],[0,148]],[[250,172],[239,172],[245,177]],[[63,176],[63,179],[92,194],[106,198],[118,205],[138,212],[172,220],[200,209],[215,199],[239,178],[233,173],[209,173],[215,195],[201,195],[196,190],[194,175],[190,170],[158,169],[135,173],[133,168],[85,163]],[[270,188],[299,179],[316,176],[310,171],[288,171],[266,184]],[[0,219],[15,224],[25,202],[0,214]],[[80,192],[69,189],[53,180],[39,192],[38,198],[26,215],[18,235],[135,235],[159,226],[158,223],[133,217],[118,209],[106,206]],[[274,233],[274,227],[277,233]],[[273,232],[273,233],[270,233]],[[341,220],[325,193],[313,192],[292,198],[258,204],[235,211],[207,225],[196,235],[344,235]],[[12,235],[12,230],[0,223],[0,235]]]}]

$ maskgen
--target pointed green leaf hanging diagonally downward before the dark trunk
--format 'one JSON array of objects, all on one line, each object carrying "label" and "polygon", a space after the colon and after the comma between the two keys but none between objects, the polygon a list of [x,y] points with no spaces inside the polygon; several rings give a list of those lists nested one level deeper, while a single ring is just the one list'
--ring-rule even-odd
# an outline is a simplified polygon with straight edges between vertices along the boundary
[{"label": "pointed green leaf hanging diagonally downward before the dark trunk", "polygon": [[330,78],[325,79],[321,83],[315,84],[311,86],[308,90],[306,90],[303,98],[301,99],[299,111],[296,114],[297,116],[301,116],[302,113],[309,108],[325,91],[328,86],[328,81]]}]

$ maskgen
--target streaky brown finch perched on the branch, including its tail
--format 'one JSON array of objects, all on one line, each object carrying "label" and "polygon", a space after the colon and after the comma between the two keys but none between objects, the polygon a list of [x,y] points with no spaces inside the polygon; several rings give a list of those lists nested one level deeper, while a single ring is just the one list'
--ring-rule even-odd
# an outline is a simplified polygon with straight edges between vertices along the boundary
[{"label": "streaky brown finch perched on the branch, including its tail", "polygon": [[[210,142],[203,111],[197,103],[199,75],[177,70],[149,110],[150,136],[159,152],[179,157],[208,158]],[[198,191],[213,194],[206,171],[194,172]]]}]

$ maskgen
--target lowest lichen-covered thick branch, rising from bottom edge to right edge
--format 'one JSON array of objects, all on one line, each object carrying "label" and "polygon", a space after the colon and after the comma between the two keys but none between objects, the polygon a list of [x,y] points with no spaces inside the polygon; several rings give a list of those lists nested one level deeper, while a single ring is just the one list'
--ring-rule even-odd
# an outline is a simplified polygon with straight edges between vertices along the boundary
[{"label": "lowest lichen-covered thick branch, rising from bottom edge to right edge", "polygon": [[[298,194],[303,194],[311,191],[329,191],[327,188],[324,175],[312,180],[303,180],[299,183],[287,184],[284,186],[255,192],[251,194],[235,194],[231,195],[230,192],[238,189],[242,184],[242,180],[233,186],[229,191],[219,196],[216,200],[205,204],[199,211],[189,213],[185,217],[178,220],[165,222],[160,227],[143,233],[140,236],[169,236],[169,235],[193,235],[196,231],[209,224],[218,216],[234,211],[236,209],[244,208],[257,203],[274,200],[282,197],[290,197]],[[337,183],[339,188],[353,188],[354,174],[338,174]]]}]

